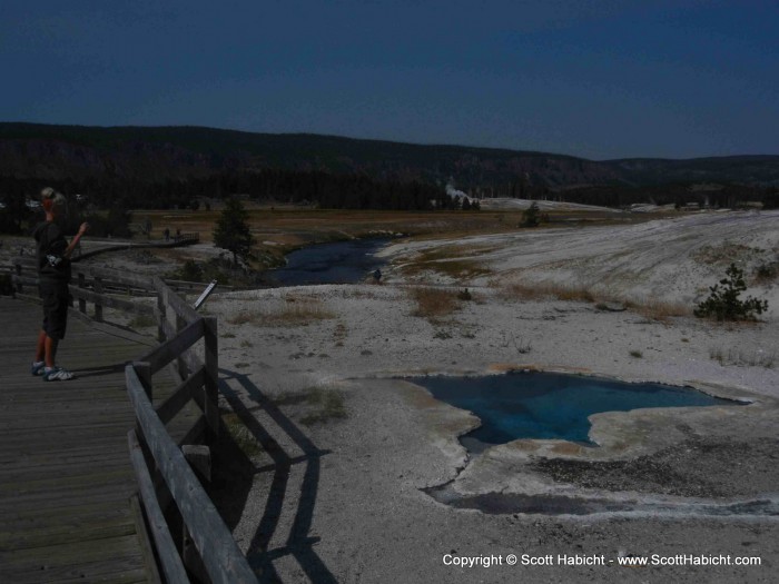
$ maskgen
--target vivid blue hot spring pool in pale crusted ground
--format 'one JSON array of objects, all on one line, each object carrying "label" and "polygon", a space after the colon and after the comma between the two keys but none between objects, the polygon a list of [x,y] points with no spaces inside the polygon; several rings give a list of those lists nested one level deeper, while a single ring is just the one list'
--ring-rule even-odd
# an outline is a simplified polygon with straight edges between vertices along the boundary
[{"label": "vivid blue hot spring pool in pale crusted ground", "polygon": [[480,444],[504,444],[519,438],[590,443],[588,417],[599,412],[738,405],[687,387],[556,373],[408,380],[425,387],[436,399],[479,416],[482,425],[462,437],[472,452],[483,449]]}]

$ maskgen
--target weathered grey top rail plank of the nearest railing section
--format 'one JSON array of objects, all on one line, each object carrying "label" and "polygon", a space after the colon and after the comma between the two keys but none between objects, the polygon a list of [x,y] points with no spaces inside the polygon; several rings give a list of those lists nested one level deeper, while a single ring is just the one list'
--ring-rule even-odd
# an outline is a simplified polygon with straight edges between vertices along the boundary
[{"label": "weathered grey top rail plank of the nearest railing section", "polygon": [[181,513],[195,547],[214,583],[257,582],[233,535],[174,444],[149,403],[131,365],[125,369],[127,393],[155,464]]}]

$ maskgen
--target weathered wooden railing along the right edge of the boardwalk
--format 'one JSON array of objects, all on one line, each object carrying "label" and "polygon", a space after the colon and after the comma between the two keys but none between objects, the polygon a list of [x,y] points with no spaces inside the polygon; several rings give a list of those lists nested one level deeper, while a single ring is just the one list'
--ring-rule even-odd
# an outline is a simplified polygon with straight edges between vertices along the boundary
[{"label": "weathered wooden railing along the right edge of the boardwalk", "polygon": [[[17,291],[23,294],[23,286],[33,284],[34,278],[24,274],[22,263],[14,263],[14,271]],[[128,364],[125,378],[136,416],[136,426],[127,436],[130,459],[165,581],[185,583],[193,577],[198,582],[256,583],[248,562],[190,466],[191,462],[209,478],[208,445],[219,434],[216,318],[199,315],[158,277],[76,265],[73,276],[77,284],[70,286],[70,291],[80,313],[87,314],[89,303],[95,305],[95,320],[101,321],[102,308],[111,307],[149,315],[158,325],[159,345]],[[156,306],[106,294],[106,288],[117,286],[154,294]],[[174,365],[178,385],[155,405],[152,376],[169,364]],[[166,424],[189,403],[197,405],[199,415],[177,444]],[[205,461],[205,465],[198,466],[196,461]],[[171,514],[183,525],[176,537],[166,519]]]}]

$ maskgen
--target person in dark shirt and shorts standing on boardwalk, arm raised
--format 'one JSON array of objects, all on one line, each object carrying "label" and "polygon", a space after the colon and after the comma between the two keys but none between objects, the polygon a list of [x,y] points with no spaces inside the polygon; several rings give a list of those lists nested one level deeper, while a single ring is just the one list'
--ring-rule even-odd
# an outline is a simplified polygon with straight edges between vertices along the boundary
[{"label": "person in dark shirt and shorts standing on boardwalk, arm raised", "polygon": [[89,226],[85,222],[68,244],[60,222],[67,216],[68,202],[61,192],[47,187],[41,191],[46,220],[36,227],[36,256],[38,261],[38,289],[43,303],[43,327],[38,334],[36,358],[31,373],[47,382],[67,382],[73,374],[57,366],[57,346],[65,338],[68,325],[70,294],[70,256]]}]

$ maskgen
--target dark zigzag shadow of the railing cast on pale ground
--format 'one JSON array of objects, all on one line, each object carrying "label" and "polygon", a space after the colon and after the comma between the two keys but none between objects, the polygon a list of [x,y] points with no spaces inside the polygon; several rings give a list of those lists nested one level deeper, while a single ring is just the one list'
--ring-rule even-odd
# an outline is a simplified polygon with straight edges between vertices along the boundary
[{"label": "dark zigzag shadow of the railing cast on pale ground", "polygon": [[[319,538],[308,535],[319,484],[319,458],[327,454],[328,451],[318,449],[308,436],[292,419],[285,416],[246,375],[227,369],[219,369],[219,389],[221,394],[227,398],[241,423],[263,446],[268,456],[273,458],[272,465],[254,469],[254,473],[273,473],[273,478],[263,516],[247,552],[249,564],[260,574],[262,582],[284,582],[276,572],[273,562],[279,557],[290,555],[297,561],[312,582],[335,583],[335,577],[313,548]],[[228,380],[234,380],[240,385],[241,389],[246,392],[256,406],[248,408],[229,386]],[[252,410],[257,409],[263,409],[273,419],[274,424],[286,434],[296,448],[303,452],[302,456],[293,456],[284,449],[255,418]],[[289,486],[289,471],[296,464],[305,465],[299,489],[293,489]],[[248,483],[250,487],[250,481]],[[241,493],[241,496],[245,502],[246,497],[248,497],[248,491]],[[270,550],[270,540],[278,527],[282,508],[285,502],[287,502],[287,508],[289,508],[293,497],[297,497],[297,505],[289,536],[285,545]],[[230,527],[234,527],[240,516],[230,515],[233,516],[229,517],[229,521],[235,522]]]}]

